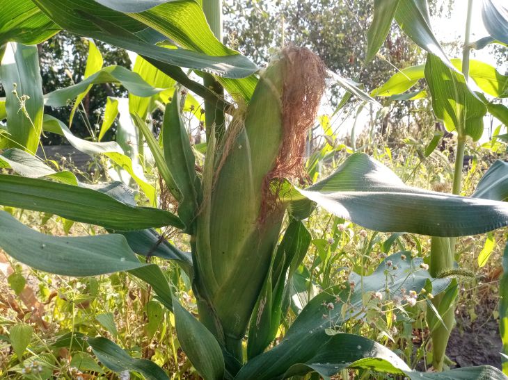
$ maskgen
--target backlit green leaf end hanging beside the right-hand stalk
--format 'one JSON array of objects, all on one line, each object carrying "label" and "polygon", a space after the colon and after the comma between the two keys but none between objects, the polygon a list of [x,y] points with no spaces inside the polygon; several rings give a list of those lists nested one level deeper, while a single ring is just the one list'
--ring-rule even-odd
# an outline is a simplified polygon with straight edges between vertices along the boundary
[{"label": "backlit green leaf end hanging beside the right-hand stalk", "polygon": [[470,90],[464,76],[433,54],[427,55],[425,80],[432,96],[432,109],[447,131],[457,131],[477,141],[483,134],[484,102]]}]

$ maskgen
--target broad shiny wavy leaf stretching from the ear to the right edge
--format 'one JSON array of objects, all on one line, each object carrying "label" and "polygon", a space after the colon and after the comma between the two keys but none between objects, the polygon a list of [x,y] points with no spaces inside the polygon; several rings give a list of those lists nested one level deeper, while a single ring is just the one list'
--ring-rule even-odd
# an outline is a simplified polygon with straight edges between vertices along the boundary
[{"label": "broad shiny wavy leaf stretching from the ear to the right edge", "polygon": [[[388,167],[361,153],[299,192],[329,212],[375,231],[466,236],[508,224],[504,202],[412,188]],[[301,197],[293,192],[292,199]]]}]

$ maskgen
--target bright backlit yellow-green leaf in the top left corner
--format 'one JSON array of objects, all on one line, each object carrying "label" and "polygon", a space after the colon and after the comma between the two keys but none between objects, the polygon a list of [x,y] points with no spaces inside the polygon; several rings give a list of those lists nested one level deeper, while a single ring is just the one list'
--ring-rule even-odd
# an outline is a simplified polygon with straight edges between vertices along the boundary
[{"label": "bright backlit yellow-green leaf in the top left corner", "polygon": [[2,1],[0,46],[6,42],[39,44],[58,33],[60,28],[31,0]]}]

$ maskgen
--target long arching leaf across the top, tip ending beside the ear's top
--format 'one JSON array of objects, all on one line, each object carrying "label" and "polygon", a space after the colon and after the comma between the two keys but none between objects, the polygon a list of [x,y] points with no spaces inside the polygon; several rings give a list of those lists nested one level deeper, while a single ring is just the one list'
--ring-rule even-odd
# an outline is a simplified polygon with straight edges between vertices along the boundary
[{"label": "long arching leaf across the top, tip ending beside the ear's top", "polygon": [[[92,0],[33,0],[33,2],[61,28],[102,40],[123,49],[136,51],[143,56],[150,56],[171,65],[189,67],[232,78],[249,76],[257,71],[257,67],[239,53],[212,57],[197,51],[165,49],[145,42],[141,33],[143,31],[146,34],[145,24]],[[184,3],[194,2],[185,1]],[[171,3],[163,4],[163,6],[170,5]],[[133,13],[132,15],[134,17],[139,14]],[[189,24],[189,29],[192,28],[193,26]],[[202,28],[196,29],[203,31]],[[175,38],[175,36],[173,37]]]}]

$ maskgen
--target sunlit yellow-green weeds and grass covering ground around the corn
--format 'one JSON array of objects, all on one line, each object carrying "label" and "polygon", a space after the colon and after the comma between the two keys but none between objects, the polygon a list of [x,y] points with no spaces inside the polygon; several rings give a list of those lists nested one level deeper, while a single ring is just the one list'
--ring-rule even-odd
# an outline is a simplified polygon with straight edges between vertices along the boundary
[{"label": "sunlit yellow-green weeds and grass covering ground around the corn", "polygon": [[[449,147],[453,146],[453,142],[448,141],[442,151],[436,150],[428,158],[423,158],[422,151],[428,140],[420,138],[418,134],[416,136],[409,138],[408,134],[402,134],[396,144],[390,145],[374,140],[365,150],[392,168],[408,185],[448,192],[453,172],[450,165],[452,149]],[[361,144],[357,143],[357,146]],[[464,195],[473,192],[482,173],[498,156],[495,153],[498,147],[487,148],[474,147],[466,151],[466,154],[475,158],[464,176]],[[322,175],[331,172],[346,157],[344,152],[335,156],[324,167]],[[151,180],[156,182],[153,173]],[[33,229],[55,235],[104,232],[85,224],[71,225],[56,216],[24,210],[10,211]],[[306,281],[308,295],[348,281],[351,272],[367,276],[386,255],[396,251],[407,250],[413,256],[424,258],[424,261],[428,258],[430,239],[424,236],[404,235],[388,244],[391,234],[365,231],[323,210],[314,213],[306,223],[312,233],[312,244],[305,267],[300,268],[299,274]],[[470,276],[459,278],[459,331],[466,331],[473,324],[482,327],[489,320],[498,318],[495,310],[501,273],[501,242],[507,232],[507,229],[500,229],[493,234],[495,245],[489,261],[483,267],[479,267],[477,257],[484,249],[486,236],[459,239],[456,259],[461,268],[470,273]],[[180,236],[175,236],[175,240],[180,248],[189,249]],[[158,258],[151,260],[161,265],[168,281],[179,290],[180,301],[186,308],[197,313],[189,279],[180,277],[180,270],[173,263]],[[180,350],[173,315],[154,299],[145,283],[125,273],[80,279],[56,276],[31,270],[5,255],[0,255],[0,262],[3,273],[0,274],[0,377],[118,378],[97,363],[90,352],[54,346],[58,337],[65,333],[86,333],[114,340],[135,358],[151,359],[170,373],[173,379],[198,378]],[[23,281],[24,290],[20,292]],[[431,350],[429,331],[424,322],[426,302],[423,299],[415,306],[406,308],[405,317],[402,313],[394,317],[395,313],[390,311],[396,307],[388,297],[367,295],[364,302],[365,319],[351,320],[344,329],[377,340],[397,352],[411,367],[427,370],[431,363]],[[280,326],[280,336],[294,320],[296,306],[292,310]],[[33,329],[22,356],[13,352],[9,340],[10,331],[18,324],[28,324]],[[345,379],[347,373],[342,375]],[[141,377],[131,375],[131,379],[136,378]]]}]

